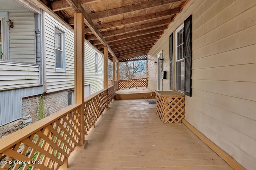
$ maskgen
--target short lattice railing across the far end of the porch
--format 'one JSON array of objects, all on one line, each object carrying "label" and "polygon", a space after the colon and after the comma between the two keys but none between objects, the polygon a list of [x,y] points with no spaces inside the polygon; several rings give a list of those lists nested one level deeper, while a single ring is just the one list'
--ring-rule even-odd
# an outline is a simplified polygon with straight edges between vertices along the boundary
[{"label": "short lattice railing across the far end of the porch", "polygon": [[119,80],[118,86],[120,88],[132,88],[132,87],[147,87],[147,78],[131,79],[131,80]]}]

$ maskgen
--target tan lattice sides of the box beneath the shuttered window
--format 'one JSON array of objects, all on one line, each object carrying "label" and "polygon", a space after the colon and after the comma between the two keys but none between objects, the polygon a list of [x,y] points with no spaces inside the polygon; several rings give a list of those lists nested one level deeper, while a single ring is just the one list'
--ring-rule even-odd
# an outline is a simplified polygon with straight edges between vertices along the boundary
[{"label": "tan lattice sides of the box beneath the shuttered window", "polygon": [[161,96],[156,94],[156,114],[163,123],[180,123],[185,116],[184,96]]}]

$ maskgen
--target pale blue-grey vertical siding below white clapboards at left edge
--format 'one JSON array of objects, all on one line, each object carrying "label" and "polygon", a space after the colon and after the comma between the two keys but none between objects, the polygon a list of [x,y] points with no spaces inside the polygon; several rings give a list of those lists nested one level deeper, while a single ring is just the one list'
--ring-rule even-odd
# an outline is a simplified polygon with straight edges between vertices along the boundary
[{"label": "pale blue-grey vertical siding below white clapboards at left edge", "polygon": [[22,98],[43,93],[43,86],[0,92],[0,126],[22,118]]}]

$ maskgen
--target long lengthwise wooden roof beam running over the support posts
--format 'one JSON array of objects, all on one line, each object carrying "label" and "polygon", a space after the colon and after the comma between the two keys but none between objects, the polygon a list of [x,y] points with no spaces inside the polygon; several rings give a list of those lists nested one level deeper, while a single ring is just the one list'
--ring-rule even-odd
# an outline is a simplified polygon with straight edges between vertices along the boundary
[{"label": "long lengthwise wooden roof beam running over the support posts", "polygon": [[72,8],[76,11],[76,12],[81,12],[84,16],[84,22],[86,23],[86,25],[91,29],[91,31],[94,33],[94,35],[99,39],[99,41],[105,45],[106,47],[108,47],[108,51],[111,53],[111,55],[113,57],[116,57],[116,55],[114,54],[114,52],[112,51],[112,49],[110,48],[110,46],[108,45],[108,43],[106,42],[106,40],[102,37],[102,35],[100,34],[100,31],[96,28],[96,26],[94,25],[94,23],[92,22],[92,20],[90,19],[90,17],[88,16],[88,14],[86,14],[84,8],[82,7],[82,5],[77,1],[77,0],[66,0],[68,2],[68,4],[70,4],[72,6]]}]

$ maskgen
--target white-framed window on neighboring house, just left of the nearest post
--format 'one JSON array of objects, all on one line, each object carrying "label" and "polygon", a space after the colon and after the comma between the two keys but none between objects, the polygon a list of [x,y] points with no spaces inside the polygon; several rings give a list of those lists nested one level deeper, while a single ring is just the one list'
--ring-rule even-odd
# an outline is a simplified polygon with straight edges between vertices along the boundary
[{"label": "white-framed window on neighboring house, just left of the nearest post", "polygon": [[54,29],[54,43],[55,43],[55,67],[56,71],[65,71],[65,37],[64,32],[60,29]]}]

